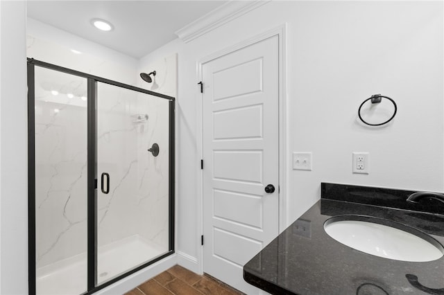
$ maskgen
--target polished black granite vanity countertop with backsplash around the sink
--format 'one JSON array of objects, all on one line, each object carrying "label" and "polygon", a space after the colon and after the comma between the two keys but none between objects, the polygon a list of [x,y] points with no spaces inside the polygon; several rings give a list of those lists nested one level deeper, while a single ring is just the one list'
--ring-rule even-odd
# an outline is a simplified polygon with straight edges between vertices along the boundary
[{"label": "polished black granite vanity countertop with backsplash around the sink", "polygon": [[323,229],[330,217],[365,215],[419,229],[444,245],[444,204],[408,204],[413,191],[407,190],[323,183],[321,191],[320,201],[247,262],[247,283],[271,294],[444,294],[444,257],[381,258],[347,247]]}]

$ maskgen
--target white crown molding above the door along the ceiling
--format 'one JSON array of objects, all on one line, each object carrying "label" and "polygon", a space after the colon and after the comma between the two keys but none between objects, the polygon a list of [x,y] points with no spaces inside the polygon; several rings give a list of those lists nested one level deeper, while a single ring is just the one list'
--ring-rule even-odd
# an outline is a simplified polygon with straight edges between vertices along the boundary
[{"label": "white crown molding above the door along the ceiling", "polygon": [[232,21],[241,15],[268,3],[271,0],[229,1],[222,6],[208,12],[191,24],[177,30],[175,33],[183,42],[188,43],[223,24]]}]

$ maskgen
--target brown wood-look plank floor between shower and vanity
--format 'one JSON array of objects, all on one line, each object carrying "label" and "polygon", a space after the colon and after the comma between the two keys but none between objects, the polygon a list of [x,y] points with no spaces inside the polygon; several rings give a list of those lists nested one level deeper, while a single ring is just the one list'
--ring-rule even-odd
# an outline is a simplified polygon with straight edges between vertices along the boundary
[{"label": "brown wood-look plank floor between shower and vanity", "polygon": [[243,294],[236,289],[203,275],[199,276],[184,267],[175,265],[147,280],[139,287],[126,293],[126,295],[239,295]]}]

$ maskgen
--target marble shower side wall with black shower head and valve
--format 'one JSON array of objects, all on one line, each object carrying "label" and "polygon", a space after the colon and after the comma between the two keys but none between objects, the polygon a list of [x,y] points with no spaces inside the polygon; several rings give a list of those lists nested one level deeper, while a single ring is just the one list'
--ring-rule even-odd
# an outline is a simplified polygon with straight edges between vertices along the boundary
[{"label": "marble shower side wall with black shower head and valve", "polygon": [[[143,63],[143,62],[142,62]],[[153,83],[146,83],[142,79],[138,80],[139,87],[162,93],[167,96],[177,95],[177,75],[178,75],[177,54],[160,58],[141,66],[137,73],[156,71],[157,74]],[[137,141],[138,159],[142,162],[139,167],[139,175],[142,175],[138,186],[140,198],[139,211],[137,214],[139,231],[145,231],[148,237],[156,244],[162,245],[163,249],[168,247],[168,193],[169,193],[169,102],[164,99],[146,99],[144,95],[139,95],[139,109],[146,109],[148,120],[144,125],[138,125],[139,134],[146,132],[148,136],[140,136],[142,140]],[[146,150],[153,143],[160,147],[158,157],[152,157]],[[152,226],[146,227],[146,224]]]}]

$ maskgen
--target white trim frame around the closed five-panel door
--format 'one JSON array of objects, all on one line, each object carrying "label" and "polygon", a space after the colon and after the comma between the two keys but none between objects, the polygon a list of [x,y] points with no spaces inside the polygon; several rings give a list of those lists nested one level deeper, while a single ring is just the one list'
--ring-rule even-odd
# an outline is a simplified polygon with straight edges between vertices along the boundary
[{"label": "white trim frame around the closed five-panel door", "polygon": [[[223,55],[232,53],[246,46],[250,46],[264,39],[277,35],[279,39],[279,233],[287,228],[287,24],[268,30],[265,33],[255,35],[244,42],[235,44],[212,55],[204,57],[197,62],[197,80],[202,81],[203,64],[215,60]],[[205,91],[205,82],[203,85]],[[198,89],[198,87],[196,87]],[[197,104],[197,132],[196,146],[197,154],[203,159],[203,94],[200,94],[200,103]],[[205,161],[204,161],[205,169]],[[200,244],[200,235],[203,235],[203,170],[197,177],[197,272],[203,274],[203,246]]]}]

